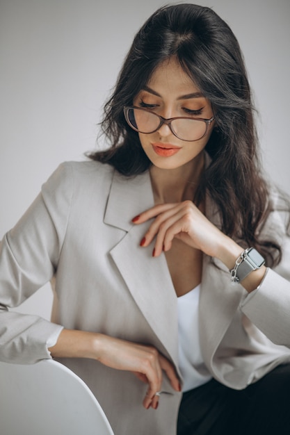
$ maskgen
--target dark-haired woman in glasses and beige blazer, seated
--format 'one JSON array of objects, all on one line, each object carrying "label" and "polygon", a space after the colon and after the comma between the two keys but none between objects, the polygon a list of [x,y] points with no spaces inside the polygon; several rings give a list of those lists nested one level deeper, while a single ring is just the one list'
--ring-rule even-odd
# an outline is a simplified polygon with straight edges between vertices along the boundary
[{"label": "dark-haired woman in glasses and beige blazer, seated", "polygon": [[[109,149],[61,165],[3,238],[1,359],[61,359],[115,434],[289,433],[289,205],[227,24],[157,10],[102,127]],[[51,322],[8,312],[49,280]]]}]

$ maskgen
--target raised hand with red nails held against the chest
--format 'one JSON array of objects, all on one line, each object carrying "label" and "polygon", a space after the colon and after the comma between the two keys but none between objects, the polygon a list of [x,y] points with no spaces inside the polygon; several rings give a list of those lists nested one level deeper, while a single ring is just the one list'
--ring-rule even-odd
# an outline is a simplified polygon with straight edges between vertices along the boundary
[{"label": "raised hand with red nails held against the chest", "polygon": [[200,249],[204,254],[217,256],[227,236],[214,226],[191,201],[177,204],[159,204],[134,217],[132,222],[141,224],[155,217],[141,246],[148,246],[156,236],[153,256],[168,251],[174,238]]}]

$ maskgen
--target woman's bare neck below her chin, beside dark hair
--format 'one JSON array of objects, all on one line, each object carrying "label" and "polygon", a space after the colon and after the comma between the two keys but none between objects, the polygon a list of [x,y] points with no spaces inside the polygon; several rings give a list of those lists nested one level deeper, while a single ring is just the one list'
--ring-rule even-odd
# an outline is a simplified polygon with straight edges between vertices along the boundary
[{"label": "woman's bare neck below her chin, beside dark hair", "polygon": [[204,154],[175,169],[150,168],[155,204],[193,200],[204,170]]}]

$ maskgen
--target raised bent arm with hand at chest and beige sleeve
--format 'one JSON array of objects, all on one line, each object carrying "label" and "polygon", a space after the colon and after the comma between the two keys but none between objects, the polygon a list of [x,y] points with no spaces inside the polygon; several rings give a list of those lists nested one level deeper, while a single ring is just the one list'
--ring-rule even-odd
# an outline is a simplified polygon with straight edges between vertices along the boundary
[{"label": "raised bent arm with hand at chest and beige sleeve", "polygon": [[[170,249],[173,238],[179,238],[204,254],[218,258],[231,270],[243,252],[243,247],[225,236],[190,201],[154,206],[140,213],[133,222],[139,224],[152,217],[155,219],[141,245],[147,247],[154,240],[154,256]],[[273,270],[265,275],[264,266],[251,272],[241,281],[248,291],[242,310],[274,343],[290,346],[290,239],[286,235],[282,249],[284,260],[277,270],[286,279]]]}]

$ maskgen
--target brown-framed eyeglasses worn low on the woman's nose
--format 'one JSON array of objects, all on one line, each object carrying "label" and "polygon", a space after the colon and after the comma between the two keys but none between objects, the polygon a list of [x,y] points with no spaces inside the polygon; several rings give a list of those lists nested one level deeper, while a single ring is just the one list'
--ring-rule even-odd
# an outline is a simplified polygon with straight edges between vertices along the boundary
[{"label": "brown-framed eyeglasses worn low on the woman's nose", "polygon": [[203,138],[214,117],[204,118],[174,117],[163,118],[146,108],[124,107],[124,116],[129,126],[138,133],[150,134],[159,130],[163,124],[168,125],[170,131],[179,139],[194,142]]}]

